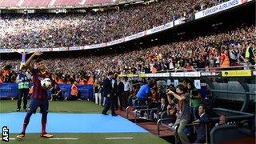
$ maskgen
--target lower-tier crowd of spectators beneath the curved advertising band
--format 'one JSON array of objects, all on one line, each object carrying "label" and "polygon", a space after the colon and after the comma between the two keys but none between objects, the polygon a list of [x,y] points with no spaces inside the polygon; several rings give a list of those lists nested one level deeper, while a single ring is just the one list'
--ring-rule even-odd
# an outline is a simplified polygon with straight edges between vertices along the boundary
[{"label": "lower-tier crowd of spectators beneath the curved advertising band", "polygon": [[[127,50],[122,54],[103,54],[71,58],[45,58],[46,66],[59,82],[74,80],[88,82],[90,78],[101,78],[109,70],[118,74],[156,73],[166,70],[194,71],[216,67],[255,65],[255,26],[199,36],[185,41],[165,45]],[[20,62],[2,60],[3,81],[14,79]],[[10,70],[10,67],[12,69]],[[13,73],[13,74],[11,74]],[[6,77],[6,75],[9,75]],[[14,78],[12,78],[14,77]]]}]

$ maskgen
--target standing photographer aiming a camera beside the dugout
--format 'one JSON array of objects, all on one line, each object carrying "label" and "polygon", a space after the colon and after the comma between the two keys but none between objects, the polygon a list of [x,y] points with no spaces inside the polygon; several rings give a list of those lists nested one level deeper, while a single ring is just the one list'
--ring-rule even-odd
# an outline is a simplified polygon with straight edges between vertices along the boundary
[{"label": "standing photographer aiming a camera beside the dugout", "polygon": [[[176,87],[176,93],[174,91],[168,90],[166,93],[168,96],[168,100],[171,103],[177,103],[177,119],[174,123],[174,127],[178,126],[178,130],[175,130],[175,143],[190,143],[189,139],[186,137],[186,134],[183,134],[183,130],[186,127],[186,124],[190,122],[190,97],[188,93],[185,93],[186,90],[185,86],[178,85]],[[171,98],[174,96],[174,98]]]}]

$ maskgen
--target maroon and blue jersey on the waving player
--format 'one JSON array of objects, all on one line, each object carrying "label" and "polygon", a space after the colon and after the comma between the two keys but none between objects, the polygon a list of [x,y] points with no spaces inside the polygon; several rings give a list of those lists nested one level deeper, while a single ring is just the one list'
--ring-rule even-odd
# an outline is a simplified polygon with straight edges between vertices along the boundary
[{"label": "maroon and blue jersey on the waving player", "polygon": [[47,99],[47,90],[42,88],[41,80],[43,80],[44,78],[51,79],[50,73],[48,71],[46,71],[44,74],[42,74],[41,71],[38,69],[31,70],[31,73],[33,74],[32,81],[34,82],[33,93],[31,95],[31,98]]}]

